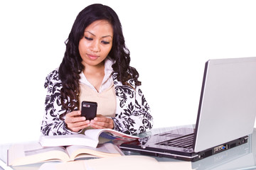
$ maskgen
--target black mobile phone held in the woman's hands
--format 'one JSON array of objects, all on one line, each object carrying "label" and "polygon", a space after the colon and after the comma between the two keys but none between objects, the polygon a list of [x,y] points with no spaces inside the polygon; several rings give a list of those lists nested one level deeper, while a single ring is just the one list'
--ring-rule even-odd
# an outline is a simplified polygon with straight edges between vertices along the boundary
[{"label": "black mobile phone held in the woman's hands", "polygon": [[81,115],[85,116],[86,120],[92,120],[97,114],[97,103],[94,101],[82,101]]}]

